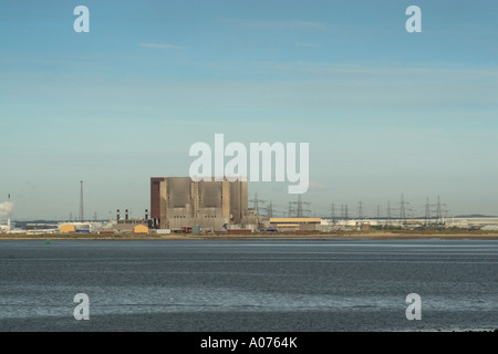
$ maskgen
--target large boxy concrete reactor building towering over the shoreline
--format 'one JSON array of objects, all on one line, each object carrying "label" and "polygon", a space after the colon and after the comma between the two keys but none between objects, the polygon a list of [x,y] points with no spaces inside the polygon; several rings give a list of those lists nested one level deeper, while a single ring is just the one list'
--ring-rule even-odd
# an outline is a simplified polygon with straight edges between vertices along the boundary
[{"label": "large boxy concrete reactor building towering over the shoreline", "polygon": [[194,181],[190,177],[151,178],[151,217],[159,229],[199,226],[220,231],[228,225],[257,223],[248,214],[247,180]]}]

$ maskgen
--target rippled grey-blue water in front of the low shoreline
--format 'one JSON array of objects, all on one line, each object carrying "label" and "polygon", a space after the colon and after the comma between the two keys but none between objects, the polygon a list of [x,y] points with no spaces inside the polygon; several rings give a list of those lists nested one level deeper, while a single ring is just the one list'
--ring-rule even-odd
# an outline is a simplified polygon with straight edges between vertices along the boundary
[{"label": "rippled grey-blue water in front of the low shoreline", "polygon": [[0,331],[488,331],[497,274],[496,240],[1,241]]}]

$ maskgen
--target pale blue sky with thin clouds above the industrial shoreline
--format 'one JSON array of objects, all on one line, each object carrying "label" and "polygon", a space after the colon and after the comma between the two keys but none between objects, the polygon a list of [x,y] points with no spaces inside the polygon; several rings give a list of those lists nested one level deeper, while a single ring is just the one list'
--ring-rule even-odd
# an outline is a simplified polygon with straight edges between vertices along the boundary
[{"label": "pale blue sky with thin clouds above the industrial shoreline", "polygon": [[[77,6],[90,32],[76,33]],[[408,33],[409,6],[422,32]],[[498,215],[496,1],[0,2],[0,202],[149,208],[197,142],[309,143],[310,215]],[[289,183],[249,183],[288,211]],[[252,204],[249,202],[249,207]],[[261,206],[261,204],[260,204]]]}]

